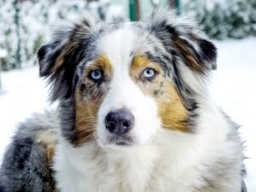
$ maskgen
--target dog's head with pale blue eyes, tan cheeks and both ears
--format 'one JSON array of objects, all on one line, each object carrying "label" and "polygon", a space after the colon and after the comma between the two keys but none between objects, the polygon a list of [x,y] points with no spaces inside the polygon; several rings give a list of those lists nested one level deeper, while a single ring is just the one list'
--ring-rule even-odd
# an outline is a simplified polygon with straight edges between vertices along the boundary
[{"label": "dog's head with pale blue eyes, tan cheeks and both ears", "polygon": [[193,131],[216,55],[193,26],[164,11],[133,23],[84,20],[57,32],[38,60],[52,100],[61,100],[64,137],[116,148],[147,143],[160,129]]}]

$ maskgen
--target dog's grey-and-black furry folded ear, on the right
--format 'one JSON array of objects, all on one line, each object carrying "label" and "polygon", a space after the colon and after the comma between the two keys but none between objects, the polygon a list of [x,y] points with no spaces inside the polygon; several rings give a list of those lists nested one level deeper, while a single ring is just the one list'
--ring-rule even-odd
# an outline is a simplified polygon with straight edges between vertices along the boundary
[{"label": "dog's grey-and-black furry folded ear, on the right", "polygon": [[192,22],[166,10],[154,12],[148,22],[166,49],[179,55],[187,67],[198,73],[217,68],[216,47]]}]

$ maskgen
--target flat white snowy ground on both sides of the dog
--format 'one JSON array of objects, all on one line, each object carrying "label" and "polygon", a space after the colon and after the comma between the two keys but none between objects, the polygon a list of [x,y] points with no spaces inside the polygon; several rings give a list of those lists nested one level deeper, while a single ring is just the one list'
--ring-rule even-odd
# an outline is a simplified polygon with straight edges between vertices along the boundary
[{"label": "flat white snowy ground on both sides of the dog", "polygon": [[[226,113],[241,125],[246,141],[248,192],[256,191],[256,38],[216,42],[218,71],[213,73],[210,90]],[[0,162],[15,125],[32,112],[49,108],[45,82],[38,68],[2,73],[0,90]]]}]

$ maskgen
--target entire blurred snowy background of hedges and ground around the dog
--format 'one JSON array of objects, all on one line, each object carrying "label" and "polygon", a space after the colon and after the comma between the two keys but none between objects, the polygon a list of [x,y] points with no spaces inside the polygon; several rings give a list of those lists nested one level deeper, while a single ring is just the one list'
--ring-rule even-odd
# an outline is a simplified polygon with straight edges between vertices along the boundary
[{"label": "entire blurred snowy background of hedges and ground around the dog", "polygon": [[256,191],[256,0],[0,0],[0,164],[15,125],[54,108],[38,78],[36,52],[56,26],[93,15],[98,20],[139,20],[153,9],[176,9],[195,20],[218,48],[209,90],[241,125],[247,187]]}]

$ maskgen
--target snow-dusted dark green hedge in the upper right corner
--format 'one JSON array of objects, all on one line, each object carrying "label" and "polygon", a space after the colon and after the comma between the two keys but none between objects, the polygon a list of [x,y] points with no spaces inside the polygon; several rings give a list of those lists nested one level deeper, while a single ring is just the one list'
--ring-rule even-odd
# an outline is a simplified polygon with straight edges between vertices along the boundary
[{"label": "snow-dusted dark green hedge in the upper right corner", "polygon": [[187,1],[183,13],[197,20],[210,38],[246,38],[256,35],[255,0]]}]

